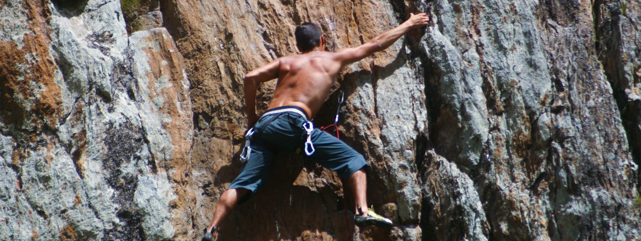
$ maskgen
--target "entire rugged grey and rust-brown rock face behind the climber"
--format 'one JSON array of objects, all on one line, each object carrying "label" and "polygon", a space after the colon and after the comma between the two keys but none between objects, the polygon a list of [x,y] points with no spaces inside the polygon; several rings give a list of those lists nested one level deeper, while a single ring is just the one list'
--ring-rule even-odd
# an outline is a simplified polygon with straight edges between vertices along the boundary
[{"label": "entire rugged grey and rust-brown rock face behind the climber", "polygon": [[0,239],[199,240],[242,168],[244,74],[296,54],[301,22],[334,51],[426,12],[346,66],[314,119],[333,123],[345,92],[341,137],[398,226],[346,226],[340,178],[282,153],[221,240],[634,240],[640,7],[0,1]]}]

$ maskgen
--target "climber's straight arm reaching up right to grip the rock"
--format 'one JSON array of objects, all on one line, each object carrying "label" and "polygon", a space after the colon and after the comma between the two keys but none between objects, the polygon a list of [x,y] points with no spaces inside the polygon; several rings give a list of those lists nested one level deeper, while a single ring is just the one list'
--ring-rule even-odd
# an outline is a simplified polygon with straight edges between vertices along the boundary
[{"label": "climber's straight arm reaching up right to grip the rock", "polygon": [[358,47],[339,49],[336,51],[337,61],[340,61],[342,65],[348,65],[350,63],[360,61],[361,59],[374,54],[374,52],[387,49],[410,29],[426,26],[428,23],[429,17],[427,14],[419,13],[414,15],[413,13],[410,13],[410,19],[403,22],[403,24],[398,27],[394,27],[385,33],[381,33],[369,40],[367,43],[363,43],[363,45]]}]

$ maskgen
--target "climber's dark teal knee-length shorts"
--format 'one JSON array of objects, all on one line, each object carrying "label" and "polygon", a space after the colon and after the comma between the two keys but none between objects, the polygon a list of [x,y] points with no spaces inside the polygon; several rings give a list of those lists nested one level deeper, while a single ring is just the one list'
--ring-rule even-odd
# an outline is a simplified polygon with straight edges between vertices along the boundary
[{"label": "climber's dark teal knee-length shorts", "polygon": [[299,150],[299,154],[336,171],[344,180],[367,166],[363,155],[318,128],[314,128],[312,131],[312,143],[315,151],[312,155],[307,156],[303,151],[307,138],[306,130],[303,127],[307,121],[306,117],[296,112],[271,114],[274,111],[278,112],[289,108],[304,113],[302,109],[295,106],[278,107],[265,112],[254,125],[247,163],[240,171],[240,175],[228,187],[228,189],[244,188],[251,191],[251,195],[245,196],[239,203],[246,202],[256,194],[258,187],[267,178],[274,156],[278,152],[296,153]]}]

